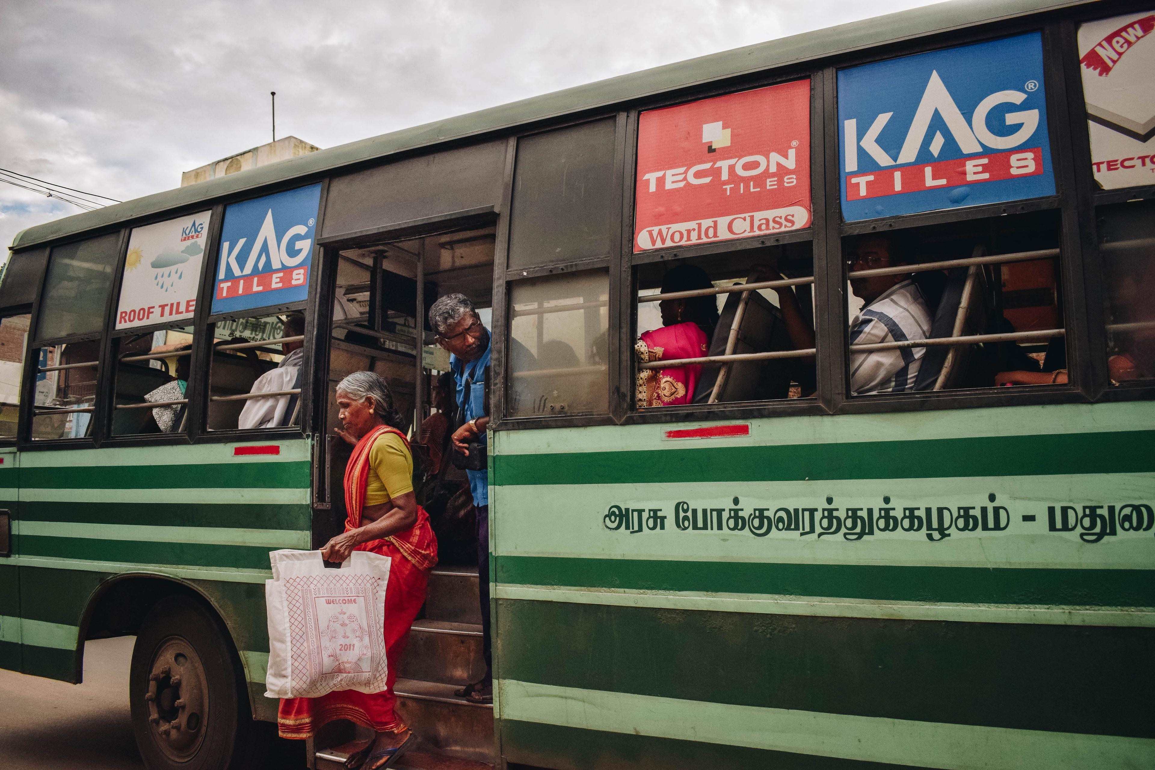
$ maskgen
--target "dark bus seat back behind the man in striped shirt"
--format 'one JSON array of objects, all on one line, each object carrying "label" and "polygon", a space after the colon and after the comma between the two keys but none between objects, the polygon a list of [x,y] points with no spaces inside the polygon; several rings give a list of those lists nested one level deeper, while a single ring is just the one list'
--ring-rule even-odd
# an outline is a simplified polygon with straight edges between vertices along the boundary
[{"label": "dark bus seat back behind the man in striped shirt", "polygon": [[[971,257],[983,256],[986,249],[976,246]],[[982,334],[990,312],[986,301],[986,272],[982,266],[954,268],[947,274],[942,298],[931,323],[931,337],[961,337]],[[964,387],[970,371],[975,345],[936,345],[923,356],[915,390],[949,390]]]}]

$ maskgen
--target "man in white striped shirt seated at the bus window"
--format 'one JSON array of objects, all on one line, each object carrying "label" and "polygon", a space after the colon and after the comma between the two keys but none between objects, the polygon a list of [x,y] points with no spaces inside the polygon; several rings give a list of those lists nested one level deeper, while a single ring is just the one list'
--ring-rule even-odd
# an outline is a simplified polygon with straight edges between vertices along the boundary
[{"label": "man in white striped shirt seated at the bus window", "polygon": [[[903,260],[889,236],[863,236],[847,245],[850,270],[897,267]],[[910,274],[851,278],[850,289],[863,308],[850,322],[850,344],[925,339],[931,313],[922,290]],[[925,347],[874,350],[850,353],[850,390],[862,396],[915,389]]]}]

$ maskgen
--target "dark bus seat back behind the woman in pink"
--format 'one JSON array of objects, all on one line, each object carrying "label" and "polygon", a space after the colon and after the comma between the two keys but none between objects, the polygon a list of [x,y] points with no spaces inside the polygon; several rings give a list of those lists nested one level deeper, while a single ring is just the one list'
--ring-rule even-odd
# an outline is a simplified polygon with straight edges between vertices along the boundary
[{"label": "dark bus seat back behind the woman in pink", "polygon": [[[747,292],[733,292],[726,297],[725,305],[718,316],[718,324],[710,339],[710,356],[723,356],[730,338],[730,328]],[[760,353],[772,350],[791,350],[790,336],[787,332],[782,312],[759,292],[748,292],[750,299],[738,327],[738,337],[733,353]],[[789,367],[782,361],[736,361],[702,369],[702,375],[694,388],[694,403],[710,403],[714,383],[723,367],[726,369],[717,402],[760,401],[763,398],[785,398],[790,394]]]}]

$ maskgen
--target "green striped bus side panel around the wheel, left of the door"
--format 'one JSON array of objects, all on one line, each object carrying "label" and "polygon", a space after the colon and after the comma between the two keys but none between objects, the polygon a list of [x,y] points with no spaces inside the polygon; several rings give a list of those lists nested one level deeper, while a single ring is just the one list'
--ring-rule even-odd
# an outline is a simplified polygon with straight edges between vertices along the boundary
[{"label": "green striped bus side panel around the wheel, left of the door", "polygon": [[[268,658],[263,583],[270,551],[311,545],[311,453],[307,440],[262,443],[277,454],[237,455],[231,443],[23,453],[22,670],[75,681],[79,627],[98,585],[172,580],[219,612],[254,711],[269,718],[258,697]],[[103,628],[89,615],[91,633]]]}]

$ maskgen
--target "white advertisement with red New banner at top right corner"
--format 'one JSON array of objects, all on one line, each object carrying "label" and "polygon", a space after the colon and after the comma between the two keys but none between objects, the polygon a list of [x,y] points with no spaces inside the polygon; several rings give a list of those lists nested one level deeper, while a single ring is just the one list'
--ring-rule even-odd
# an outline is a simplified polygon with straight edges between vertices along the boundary
[{"label": "white advertisement with red New banner at top right corner", "polygon": [[1095,180],[1106,189],[1155,184],[1155,13],[1083,24],[1079,62]]}]

